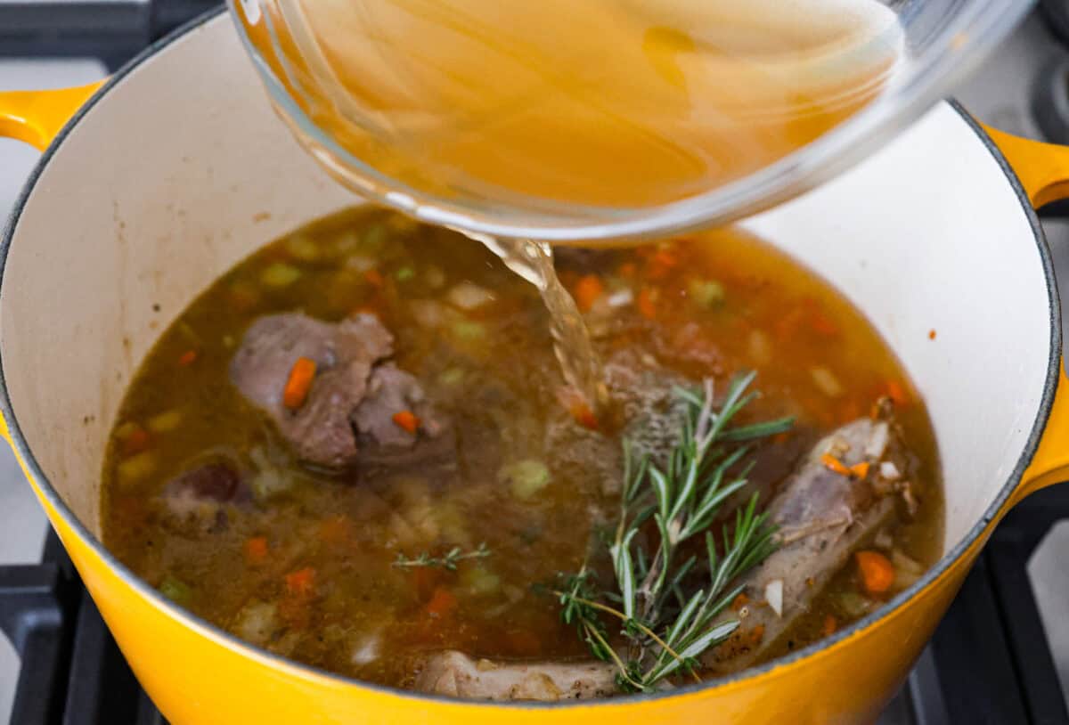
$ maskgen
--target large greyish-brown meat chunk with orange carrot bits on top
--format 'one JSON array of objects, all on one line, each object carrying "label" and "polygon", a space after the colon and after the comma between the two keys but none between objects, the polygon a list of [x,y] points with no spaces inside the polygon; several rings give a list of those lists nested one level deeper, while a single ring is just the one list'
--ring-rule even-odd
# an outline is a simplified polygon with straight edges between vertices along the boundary
[{"label": "large greyish-brown meat chunk with orange carrot bits on top", "polygon": [[[337,324],[299,313],[273,314],[246,331],[230,376],[303,460],[341,468],[369,448],[412,448],[443,430],[416,379],[387,361],[392,353],[393,336],[373,314]],[[304,404],[290,410],[282,391],[299,357],[315,361],[315,379]],[[406,410],[420,419],[417,433],[393,421]]]}]

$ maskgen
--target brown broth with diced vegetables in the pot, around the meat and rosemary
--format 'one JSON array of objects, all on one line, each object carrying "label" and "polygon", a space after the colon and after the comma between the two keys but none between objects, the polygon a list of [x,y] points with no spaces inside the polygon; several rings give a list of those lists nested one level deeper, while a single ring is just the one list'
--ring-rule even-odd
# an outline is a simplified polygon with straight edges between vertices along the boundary
[{"label": "brown broth with diced vegetables in the pot, around the meat and rosemary", "polygon": [[[557,267],[603,359],[648,356],[718,386],[741,369],[758,371],[763,396],[747,416],[796,416],[791,433],[757,450],[750,478],[764,502],[820,436],[892,396],[920,508],[885,535],[925,567],[939,557],[943,497],[924,404],[883,340],[824,281],[730,230],[564,252]],[[493,299],[468,311],[450,306],[450,290],[465,281]],[[606,312],[625,292],[632,302]],[[452,421],[452,465],[327,474],[294,461],[228,373],[254,319],[293,310],[325,320],[375,312],[397,338],[398,365]],[[414,663],[444,648],[587,657],[557,601],[532,585],[575,571],[594,526],[614,515],[603,474],[617,471],[619,435],[576,426],[556,396],[561,386],[538,293],[484,247],[378,212],[325,219],[223,275],[149,354],[103,471],[105,543],[205,619],[342,675],[405,687]],[[584,450],[597,456],[576,460]],[[211,530],[170,515],[167,482],[218,456],[241,462],[253,499],[229,507]],[[530,460],[548,479],[517,491],[502,472]],[[480,542],[490,555],[455,572],[393,566],[399,554],[440,556]],[[841,626],[877,606],[881,598],[858,593],[856,576],[848,565],[776,651],[819,638],[828,617]]]}]

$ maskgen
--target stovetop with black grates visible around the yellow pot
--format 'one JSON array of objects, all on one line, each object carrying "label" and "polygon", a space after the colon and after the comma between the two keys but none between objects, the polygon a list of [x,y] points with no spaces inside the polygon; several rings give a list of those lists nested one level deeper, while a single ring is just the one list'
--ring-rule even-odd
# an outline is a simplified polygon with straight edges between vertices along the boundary
[{"label": "stovetop with black grates visible around the yellow pot", "polygon": [[[89,82],[215,3],[0,0],[0,89]],[[955,95],[1000,128],[1069,143],[1069,0],[1041,4]],[[0,215],[34,158],[0,140]],[[1043,228],[1069,280],[1069,204],[1044,210]],[[0,453],[0,630],[21,661],[0,638],[0,722],[10,709],[13,725],[162,725],[55,535],[34,553],[44,528]],[[1069,485],[1028,498],[998,526],[879,725],[1069,725],[1065,552]]]}]

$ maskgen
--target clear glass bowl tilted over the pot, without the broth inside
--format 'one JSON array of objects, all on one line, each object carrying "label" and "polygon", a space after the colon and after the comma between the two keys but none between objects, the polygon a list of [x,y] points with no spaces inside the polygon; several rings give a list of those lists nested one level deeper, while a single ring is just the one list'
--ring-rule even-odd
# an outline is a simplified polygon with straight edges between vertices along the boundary
[{"label": "clear glass bowl tilted over the pot, without the broth inside", "polygon": [[[669,0],[642,1],[652,5]],[[786,3],[783,7],[794,1],[783,0]],[[309,13],[344,2],[362,4],[367,11],[373,6],[366,4],[371,0],[229,2],[238,33],[279,114],[299,141],[343,184],[379,204],[469,233],[587,244],[724,223],[820,184],[916,120],[1002,41],[1033,4],[1028,0],[885,1],[884,7],[897,17],[895,42],[900,44],[897,46],[900,53],[894,73],[886,76],[879,93],[861,110],[852,111],[846,120],[793,152],[726,183],[691,189],[669,200],[609,204],[577,203],[573,199],[538,194],[499,195],[496,190],[486,194],[485,184],[436,187],[433,181],[412,183],[410,178],[401,181],[390,172],[388,164],[376,163],[375,148],[382,146],[365,143],[367,139],[375,143],[389,141],[388,129],[376,123],[373,113],[359,107],[346,108],[352,99],[345,98],[344,93],[338,95],[337,88],[327,89],[334,109],[350,112],[356,136],[367,137],[356,138],[350,133],[341,139],[338,133],[325,127],[328,124],[315,112],[315,102],[309,99],[308,93],[315,83],[320,83],[317,88],[322,91],[322,78],[329,76],[325,64],[328,58],[317,46]],[[424,6],[433,4],[433,0],[422,0]],[[449,4],[455,9],[463,2],[452,0]],[[420,50],[413,48],[414,53]],[[849,63],[852,58],[843,57],[837,62]],[[314,73],[316,64],[327,73],[313,79],[310,73]],[[354,149],[361,149],[362,153],[354,153]]]}]

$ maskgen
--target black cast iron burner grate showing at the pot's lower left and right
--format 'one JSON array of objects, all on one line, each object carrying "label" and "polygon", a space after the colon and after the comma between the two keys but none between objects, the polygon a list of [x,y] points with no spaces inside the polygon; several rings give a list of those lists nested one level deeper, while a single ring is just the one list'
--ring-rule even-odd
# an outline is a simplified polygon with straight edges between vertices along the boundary
[{"label": "black cast iron burner grate showing at the pot's lower left and right", "polygon": [[[1069,485],[1007,515],[881,725],[1069,725],[1028,581],[1069,519]],[[21,658],[13,725],[164,725],[49,533],[42,564],[0,567],[0,628]]]}]

